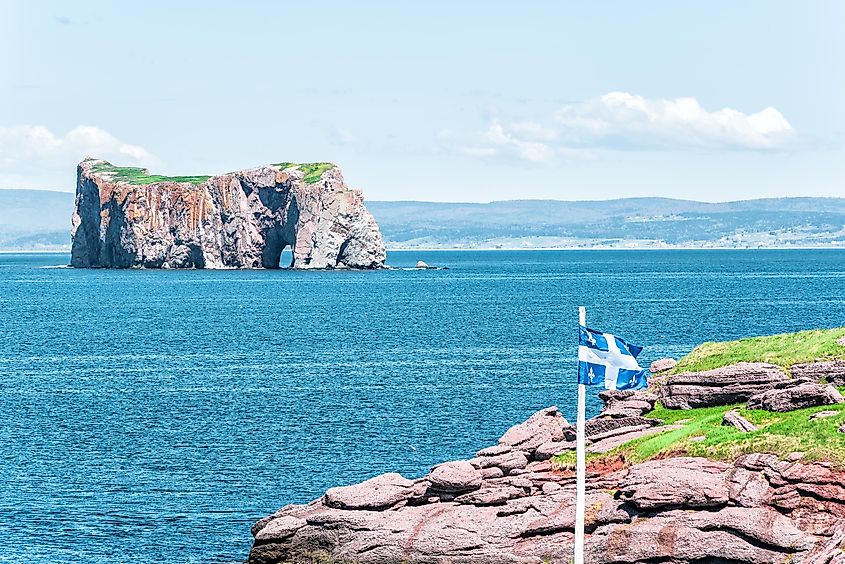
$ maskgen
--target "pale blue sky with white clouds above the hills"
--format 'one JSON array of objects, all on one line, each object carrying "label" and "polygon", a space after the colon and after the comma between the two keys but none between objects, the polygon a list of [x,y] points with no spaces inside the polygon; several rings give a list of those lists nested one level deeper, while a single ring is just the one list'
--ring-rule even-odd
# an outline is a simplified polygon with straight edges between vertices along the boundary
[{"label": "pale blue sky with white clouds above the hills", "polygon": [[845,2],[0,1],[0,188],[331,161],[371,200],[845,196]]}]

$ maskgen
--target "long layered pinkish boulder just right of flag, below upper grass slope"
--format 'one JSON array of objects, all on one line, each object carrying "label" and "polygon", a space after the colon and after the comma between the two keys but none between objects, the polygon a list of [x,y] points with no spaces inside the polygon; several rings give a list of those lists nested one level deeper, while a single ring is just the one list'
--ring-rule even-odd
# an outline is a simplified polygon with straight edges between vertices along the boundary
[{"label": "long layered pinkish boulder just right of flag, below upper grass slope", "polygon": [[748,401],[758,393],[789,380],[778,366],[740,362],[707,370],[670,376],[660,388],[660,401],[669,409],[691,409]]}]

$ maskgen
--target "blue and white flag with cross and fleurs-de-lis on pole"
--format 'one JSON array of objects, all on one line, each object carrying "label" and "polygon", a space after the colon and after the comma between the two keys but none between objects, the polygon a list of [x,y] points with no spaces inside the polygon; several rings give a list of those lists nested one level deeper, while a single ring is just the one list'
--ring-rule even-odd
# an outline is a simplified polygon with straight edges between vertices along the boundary
[{"label": "blue and white flag with cross and fleurs-de-lis on pole", "polygon": [[580,326],[578,340],[578,383],[603,384],[606,390],[638,390],[648,387],[646,374],[637,364],[642,347],[610,333]]}]

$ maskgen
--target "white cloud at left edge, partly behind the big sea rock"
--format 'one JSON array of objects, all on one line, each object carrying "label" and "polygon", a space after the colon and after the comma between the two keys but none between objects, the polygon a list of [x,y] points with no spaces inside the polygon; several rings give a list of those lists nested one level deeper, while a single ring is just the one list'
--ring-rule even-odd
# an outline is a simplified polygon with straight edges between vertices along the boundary
[{"label": "white cloud at left edge, partly behind the big sea rock", "polygon": [[143,147],[124,143],[108,131],[90,125],[79,125],[64,135],[56,135],[43,125],[0,127],[0,187],[67,184],[67,180],[59,178],[70,179],[72,184],[76,164],[86,156],[120,165],[151,166],[158,162]]}]

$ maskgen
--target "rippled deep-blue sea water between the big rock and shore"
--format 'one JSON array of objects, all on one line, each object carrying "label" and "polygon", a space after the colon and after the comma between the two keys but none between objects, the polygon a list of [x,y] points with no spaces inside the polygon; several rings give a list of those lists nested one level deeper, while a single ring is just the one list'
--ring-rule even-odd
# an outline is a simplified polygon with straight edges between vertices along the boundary
[{"label": "rippled deep-blue sea water between the big rock and shore", "polygon": [[845,324],[841,250],[389,254],[420,259],[449,269],[0,255],[0,561],[240,562],[286,503],[572,419],[580,304],[644,363]]}]

